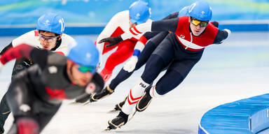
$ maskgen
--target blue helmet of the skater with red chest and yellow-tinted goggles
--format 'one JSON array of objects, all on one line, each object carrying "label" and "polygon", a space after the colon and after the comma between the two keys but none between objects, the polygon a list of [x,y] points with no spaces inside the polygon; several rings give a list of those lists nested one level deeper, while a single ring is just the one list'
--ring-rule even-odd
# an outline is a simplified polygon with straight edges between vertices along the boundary
[{"label": "blue helmet of the skater with red chest and yellow-tinted goggles", "polygon": [[196,1],[188,7],[188,14],[195,19],[207,21],[212,18],[212,8],[207,1]]}]

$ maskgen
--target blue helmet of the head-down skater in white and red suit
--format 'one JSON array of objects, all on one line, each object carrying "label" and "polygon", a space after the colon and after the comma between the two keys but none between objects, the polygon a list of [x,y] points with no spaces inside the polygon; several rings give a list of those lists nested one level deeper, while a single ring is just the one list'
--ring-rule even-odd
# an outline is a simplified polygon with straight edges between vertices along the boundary
[{"label": "blue helmet of the head-down skater in white and red suit", "polygon": [[130,21],[142,24],[151,17],[151,8],[144,1],[135,1],[129,8]]}]

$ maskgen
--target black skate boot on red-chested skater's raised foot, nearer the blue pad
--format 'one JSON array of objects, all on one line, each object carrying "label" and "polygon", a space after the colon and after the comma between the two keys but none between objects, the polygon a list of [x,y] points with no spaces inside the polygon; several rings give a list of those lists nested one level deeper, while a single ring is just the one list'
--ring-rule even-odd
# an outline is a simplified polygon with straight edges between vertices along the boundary
[{"label": "black skate boot on red-chested skater's raised foot, nearer the blue pad", "polygon": [[142,96],[142,99],[137,103],[136,109],[138,112],[142,112],[146,110],[147,107],[149,107],[149,104],[151,103],[151,95],[149,94],[149,90],[146,90],[144,93],[144,96]]}]

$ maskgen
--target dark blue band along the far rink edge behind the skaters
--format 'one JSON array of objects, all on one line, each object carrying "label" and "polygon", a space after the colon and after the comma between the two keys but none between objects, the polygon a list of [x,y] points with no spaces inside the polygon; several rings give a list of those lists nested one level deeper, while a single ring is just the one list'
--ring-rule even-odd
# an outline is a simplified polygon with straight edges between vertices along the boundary
[{"label": "dark blue band along the far rink edge behind the skaters", "polygon": [[[28,31],[34,30],[34,27],[0,27],[0,36],[20,36]],[[104,26],[97,27],[66,27],[64,33],[69,35],[90,35],[100,34]],[[269,31],[268,24],[219,24],[219,29],[230,29],[230,31]]]}]

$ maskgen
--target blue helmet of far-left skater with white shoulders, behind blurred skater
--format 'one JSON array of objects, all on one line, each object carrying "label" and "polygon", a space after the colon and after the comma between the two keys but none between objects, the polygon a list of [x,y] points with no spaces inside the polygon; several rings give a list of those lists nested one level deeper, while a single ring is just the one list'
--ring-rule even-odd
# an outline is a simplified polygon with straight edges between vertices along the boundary
[{"label": "blue helmet of far-left skater with white shoulders, behind blurred skater", "polygon": [[50,31],[55,34],[63,34],[64,27],[64,19],[55,13],[42,15],[36,24],[37,30]]}]

